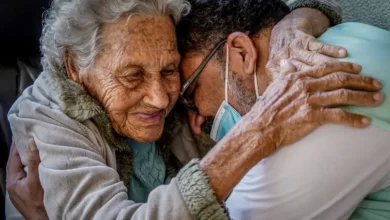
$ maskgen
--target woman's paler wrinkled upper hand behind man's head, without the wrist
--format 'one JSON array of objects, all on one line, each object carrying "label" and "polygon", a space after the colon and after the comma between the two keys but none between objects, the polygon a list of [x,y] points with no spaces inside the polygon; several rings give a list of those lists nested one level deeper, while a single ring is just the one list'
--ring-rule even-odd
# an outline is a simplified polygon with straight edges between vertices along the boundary
[{"label": "woman's paler wrinkled upper hand behind man's head, without the wrist", "polygon": [[308,25],[304,22],[307,21],[286,19],[273,28],[269,61],[266,65],[270,79],[279,75],[280,61],[284,59],[298,61],[294,65],[300,70],[302,64],[314,66],[322,63],[334,63],[339,62],[336,58],[347,56],[346,49],[319,42],[311,35],[311,31],[307,30],[306,26]]}]

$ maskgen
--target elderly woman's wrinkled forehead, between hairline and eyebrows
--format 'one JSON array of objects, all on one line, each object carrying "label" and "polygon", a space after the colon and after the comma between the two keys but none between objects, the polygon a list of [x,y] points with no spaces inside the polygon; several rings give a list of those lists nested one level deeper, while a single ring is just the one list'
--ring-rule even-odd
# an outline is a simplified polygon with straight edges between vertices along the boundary
[{"label": "elderly woman's wrinkled forehead, between hairline and eyebrows", "polygon": [[107,25],[105,33],[105,44],[113,49],[126,47],[134,52],[177,49],[174,25],[168,16],[122,18]]}]

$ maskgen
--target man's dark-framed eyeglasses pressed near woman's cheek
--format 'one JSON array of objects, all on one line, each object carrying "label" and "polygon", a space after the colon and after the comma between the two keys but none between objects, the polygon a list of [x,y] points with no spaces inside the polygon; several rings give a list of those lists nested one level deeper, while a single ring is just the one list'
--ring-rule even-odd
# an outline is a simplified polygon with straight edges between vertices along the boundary
[{"label": "man's dark-framed eyeglasses pressed near woman's cheek", "polygon": [[191,75],[191,77],[183,84],[181,92],[180,92],[180,102],[189,110],[193,111],[197,114],[199,114],[198,108],[195,106],[195,103],[193,100],[188,100],[184,97],[184,93],[186,90],[190,87],[190,85],[195,81],[196,78],[200,75],[200,73],[203,71],[203,69],[206,67],[207,63],[213,58],[213,56],[217,53],[219,48],[224,45],[226,40],[222,40],[219,42],[212,50],[211,52],[207,55],[207,57],[202,61],[202,63],[196,68],[194,73]]}]

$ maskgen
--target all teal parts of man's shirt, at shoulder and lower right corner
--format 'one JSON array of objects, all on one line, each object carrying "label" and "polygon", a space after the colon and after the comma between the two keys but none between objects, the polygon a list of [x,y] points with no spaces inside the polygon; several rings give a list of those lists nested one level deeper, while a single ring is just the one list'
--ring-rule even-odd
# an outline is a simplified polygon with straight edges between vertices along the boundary
[{"label": "all teal parts of man's shirt, at shoulder and lower right corner", "polygon": [[[390,32],[360,23],[344,23],[330,28],[319,38],[320,41],[343,46],[349,56],[343,61],[363,66],[362,74],[379,79],[383,84],[385,101],[379,107],[346,107],[363,114],[372,123],[390,130]],[[357,174],[358,175],[358,174]],[[354,211],[351,220],[390,219],[390,187],[368,195]]]}]

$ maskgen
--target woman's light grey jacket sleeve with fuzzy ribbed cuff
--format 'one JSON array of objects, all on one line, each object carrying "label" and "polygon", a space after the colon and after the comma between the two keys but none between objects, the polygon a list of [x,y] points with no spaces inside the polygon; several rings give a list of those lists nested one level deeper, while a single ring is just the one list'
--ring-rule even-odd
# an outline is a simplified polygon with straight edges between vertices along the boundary
[{"label": "woman's light grey jacket sleeve with fuzzy ribbed cuff", "polygon": [[[36,142],[41,159],[39,179],[45,192],[43,202],[49,219],[181,220],[193,219],[193,213],[198,219],[207,219],[210,213],[219,219],[227,218],[220,203],[208,198],[213,194],[204,194],[211,190],[202,176],[183,179],[179,175],[170,184],[153,190],[147,203],[130,201],[117,171],[107,164],[110,152],[102,147],[105,141],[94,124],[70,119],[57,110],[53,102],[47,102],[49,107],[44,104],[46,101],[37,101],[45,96],[38,94],[38,90],[34,85],[25,91],[16,103],[19,110],[12,111],[9,120],[24,165],[27,164],[27,141],[34,138]],[[201,188],[202,180],[203,187],[207,188]],[[192,183],[197,187],[180,189],[180,183]],[[12,189],[11,181],[8,189]],[[199,194],[205,195],[204,199],[197,200]],[[12,197],[13,193],[9,192],[9,195]],[[219,215],[216,214],[218,209],[221,210]],[[24,216],[31,216],[31,213]]]}]

